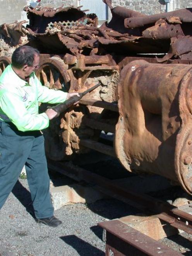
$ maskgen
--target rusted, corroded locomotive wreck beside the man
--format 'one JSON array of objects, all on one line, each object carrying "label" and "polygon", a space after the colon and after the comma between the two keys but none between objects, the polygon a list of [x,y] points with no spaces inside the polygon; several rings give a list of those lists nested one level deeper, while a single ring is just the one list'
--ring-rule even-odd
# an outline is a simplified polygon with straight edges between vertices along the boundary
[{"label": "rusted, corroded locomotive wreck beside the man", "polygon": [[[25,7],[26,28],[0,26],[0,72],[11,49],[27,44],[41,53],[36,75],[44,86],[82,92],[101,82],[45,130],[50,159],[94,149],[192,194],[191,9],[147,16],[103,1],[112,19],[101,27],[80,8]],[[98,142],[101,131],[114,134],[113,146]]]}]

